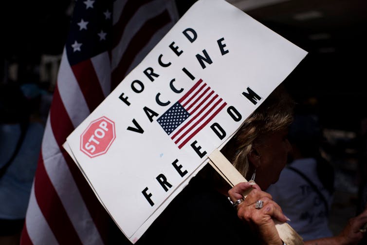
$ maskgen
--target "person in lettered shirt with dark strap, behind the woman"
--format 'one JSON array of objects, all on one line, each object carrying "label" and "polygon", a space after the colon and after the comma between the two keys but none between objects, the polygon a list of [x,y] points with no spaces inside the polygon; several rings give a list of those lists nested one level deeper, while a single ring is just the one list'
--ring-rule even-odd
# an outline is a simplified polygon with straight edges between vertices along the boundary
[{"label": "person in lettered shirt with dark strap, behind the woman", "polygon": [[328,226],[334,169],[320,154],[322,129],[314,114],[296,114],[289,128],[291,163],[267,189],[305,240],[332,236]]}]

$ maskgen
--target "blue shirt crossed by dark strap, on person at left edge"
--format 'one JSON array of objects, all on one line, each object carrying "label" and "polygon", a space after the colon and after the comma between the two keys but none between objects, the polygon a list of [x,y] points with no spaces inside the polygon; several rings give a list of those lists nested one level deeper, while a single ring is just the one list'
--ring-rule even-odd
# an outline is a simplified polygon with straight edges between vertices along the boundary
[{"label": "blue shirt crossed by dark strap, on person at left edge", "polygon": [[[22,219],[37,168],[44,127],[30,123],[17,156],[0,178],[0,219]],[[0,125],[0,167],[13,155],[20,137],[18,124]]]}]

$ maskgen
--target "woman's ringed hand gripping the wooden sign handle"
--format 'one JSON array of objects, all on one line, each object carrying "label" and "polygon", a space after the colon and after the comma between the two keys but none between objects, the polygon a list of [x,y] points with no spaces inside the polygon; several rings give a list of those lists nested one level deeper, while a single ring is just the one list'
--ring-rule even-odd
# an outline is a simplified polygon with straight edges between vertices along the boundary
[{"label": "woman's ringed hand gripping the wooden sign handle", "polygon": [[[252,190],[251,190],[252,189]],[[258,234],[259,238],[268,245],[283,245],[278,232],[275,228],[273,218],[286,222],[288,218],[283,214],[279,205],[273,200],[272,196],[262,191],[255,183],[243,182],[234,186],[228,191],[232,202],[243,198],[242,194],[251,192],[237,208],[237,215]],[[256,207],[257,201],[263,202],[263,207]]]}]

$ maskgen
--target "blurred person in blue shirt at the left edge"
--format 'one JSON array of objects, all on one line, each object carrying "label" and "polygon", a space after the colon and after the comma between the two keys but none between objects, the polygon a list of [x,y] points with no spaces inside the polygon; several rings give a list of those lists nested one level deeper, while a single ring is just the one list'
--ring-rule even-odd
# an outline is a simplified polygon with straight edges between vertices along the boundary
[{"label": "blurred person in blue shirt at the left edge", "polygon": [[37,168],[44,125],[37,119],[39,91],[0,87],[0,244],[19,244]]}]

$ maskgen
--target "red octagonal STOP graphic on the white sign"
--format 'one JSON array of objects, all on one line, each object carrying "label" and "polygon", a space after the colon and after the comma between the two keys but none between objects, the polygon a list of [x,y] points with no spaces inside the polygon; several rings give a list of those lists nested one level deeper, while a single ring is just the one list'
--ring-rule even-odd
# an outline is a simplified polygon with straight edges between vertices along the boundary
[{"label": "red octagonal STOP graphic on the white sign", "polygon": [[103,155],[115,138],[115,123],[102,116],[92,121],[80,136],[80,151],[89,157]]}]

